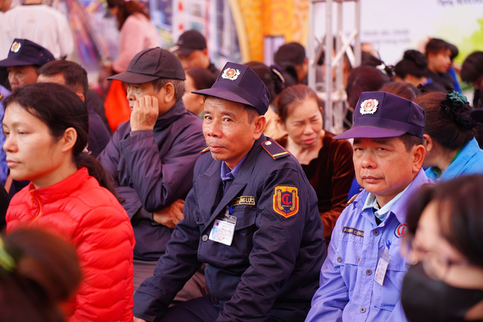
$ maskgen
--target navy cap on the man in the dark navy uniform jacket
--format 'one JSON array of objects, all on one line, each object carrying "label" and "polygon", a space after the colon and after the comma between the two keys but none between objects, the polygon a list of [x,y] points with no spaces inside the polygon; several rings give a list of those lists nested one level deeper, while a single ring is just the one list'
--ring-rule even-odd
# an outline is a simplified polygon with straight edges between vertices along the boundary
[{"label": "navy cap on the man in the dark navy uniform jacket", "polygon": [[260,77],[248,66],[227,63],[217,81],[207,90],[195,90],[194,94],[212,96],[254,107],[264,115],[270,104],[270,93]]}]

